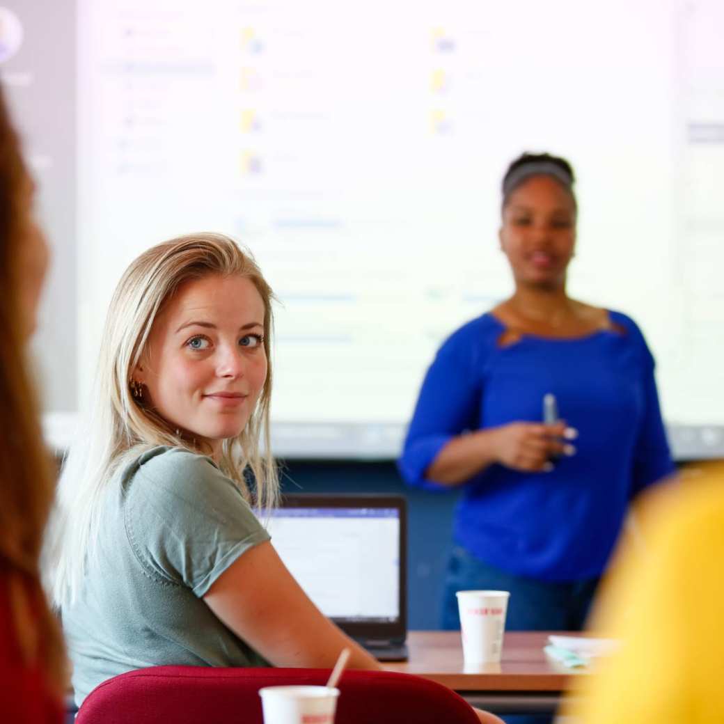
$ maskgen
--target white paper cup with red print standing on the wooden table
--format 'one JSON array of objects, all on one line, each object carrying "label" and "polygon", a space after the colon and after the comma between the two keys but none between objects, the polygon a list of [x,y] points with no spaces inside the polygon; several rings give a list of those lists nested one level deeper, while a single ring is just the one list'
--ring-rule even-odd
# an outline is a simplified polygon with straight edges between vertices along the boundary
[{"label": "white paper cup with red print standing on the wooden table", "polygon": [[458,591],[463,660],[469,664],[500,661],[508,591]]}]

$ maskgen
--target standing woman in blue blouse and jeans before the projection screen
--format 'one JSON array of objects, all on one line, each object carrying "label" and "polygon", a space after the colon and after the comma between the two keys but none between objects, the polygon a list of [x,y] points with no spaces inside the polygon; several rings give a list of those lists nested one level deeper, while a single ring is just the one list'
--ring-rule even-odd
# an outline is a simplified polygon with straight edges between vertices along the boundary
[{"label": "standing woman in blue blouse and jeans before the projection screen", "polygon": [[[515,292],[442,345],[398,463],[410,484],[463,487],[444,628],[460,589],[510,591],[510,630],[581,628],[629,501],[673,471],[639,328],[566,293],[573,180],[547,153],[510,164],[500,248]],[[560,420],[543,419],[548,395]]]}]

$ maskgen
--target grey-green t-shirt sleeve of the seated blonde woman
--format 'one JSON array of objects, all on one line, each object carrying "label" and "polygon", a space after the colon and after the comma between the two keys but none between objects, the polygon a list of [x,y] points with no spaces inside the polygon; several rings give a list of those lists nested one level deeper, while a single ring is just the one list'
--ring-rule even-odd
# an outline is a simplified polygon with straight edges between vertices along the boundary
[{"label": "grey-green t-shirt sleeve of the seated blonde woman", "polygon": [[240,555],[269,540],[234,482],[209,458],[182,450],[140,466],[127,490],[125,528],[148,576],[198,597]]}]

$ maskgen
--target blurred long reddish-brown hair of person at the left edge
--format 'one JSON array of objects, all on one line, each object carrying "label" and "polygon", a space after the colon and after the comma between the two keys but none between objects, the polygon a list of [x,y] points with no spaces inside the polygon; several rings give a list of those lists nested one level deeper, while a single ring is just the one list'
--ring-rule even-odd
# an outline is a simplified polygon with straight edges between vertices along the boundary
[{"label": "blurred long reddish-brown hair of person at the left edge", "polygon": [[20,244],[31,223],[30,176],[0,89],[0,584],[7,582],[12,627],[23,663],[62,694],[65,653],[41,587],[38,559],[54,492],[35,390],[25,360]]}]

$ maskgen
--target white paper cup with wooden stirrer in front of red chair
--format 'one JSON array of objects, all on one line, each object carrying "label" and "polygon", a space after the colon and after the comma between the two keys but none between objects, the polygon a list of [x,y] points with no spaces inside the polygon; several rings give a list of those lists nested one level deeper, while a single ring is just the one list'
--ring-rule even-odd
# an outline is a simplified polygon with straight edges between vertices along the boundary
[{"label": "white paper cup with wooden stirrer in front of red chair", "polygon": [[339,689],[265,686],[259,689],[264,724],[333,724]]}]

